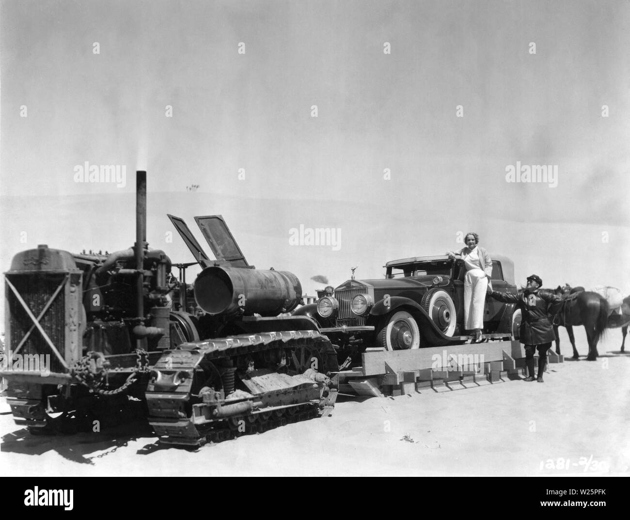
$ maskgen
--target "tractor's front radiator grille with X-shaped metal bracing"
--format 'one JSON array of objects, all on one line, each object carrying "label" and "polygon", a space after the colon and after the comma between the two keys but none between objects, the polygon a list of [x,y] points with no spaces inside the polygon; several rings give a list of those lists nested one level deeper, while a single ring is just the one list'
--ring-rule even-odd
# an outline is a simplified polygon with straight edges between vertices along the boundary
[{"label": "tractor's front radiator grille with X-shaped metal bracing", "polygon": [[[55,292],[57,287],[59,287],[59,284],[64,279],[65,274],[28,273],[7,276],[10,276],[11,283],[18,290],[21,298],[24,300],[31,313],[33,313],[33,315],[37,318],[45,304],[48,303],[52,294]],[[8,313],[7,324],[9,325],[9,331],[11,334],[8,345],[6,345],[6,350],[8,351],[10,349],[14,351],[20,344],[26,332],[28,332],[33,325],[33,321],[26,314],[26,311],[21,306],[20,301],[18,301],[18,298],[16,298],[15,294],[13,294],[13,291],[11,291],[9,287],[6,288],[6,299],[8,304],[8,309],[6,311]],[[60,294],[57,294],[57,298],[55,298],[55,301],[47,309],[45,315],[43,315],[42,320],[40,320],[40,325],[62,356],[64,355],[65,347],[65,318],[64,291],[61,291]],[[42,334],[37,330],[37,328],[30,333],[25,344],[21,346],[20,351],[17,352],[17,354],[22,356],[28,354],[49,354],[50,371],[65,371],[63,365],[59,362],[57,355],[52,352],[50,346],[47,344],[46,340],[42,337]]]}]

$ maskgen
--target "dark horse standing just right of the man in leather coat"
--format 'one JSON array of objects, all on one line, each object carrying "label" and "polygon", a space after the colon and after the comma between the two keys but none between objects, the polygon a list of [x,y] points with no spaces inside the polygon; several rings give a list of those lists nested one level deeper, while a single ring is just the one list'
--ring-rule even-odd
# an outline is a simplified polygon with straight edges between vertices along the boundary
[{"label": "dark horse standing just right of the man in leather coat", "polygon": [[588,361],[595,361],[597,343],[604,334],[608,319],[608,302],[597,292],[585,291],[584,287],[571,288],[568,284],[564,287],[556,287],[551,292],[559,294],[563,298],[563,306],[554,320],[554,333],[556,333],[556,352],[560,354],[560,338],[558,327],[566,327],[566,332],[573,347],[573,359],[578,359],[580,355],[575,348],[575,336],[573,326],[584,325],[588,340]]}]

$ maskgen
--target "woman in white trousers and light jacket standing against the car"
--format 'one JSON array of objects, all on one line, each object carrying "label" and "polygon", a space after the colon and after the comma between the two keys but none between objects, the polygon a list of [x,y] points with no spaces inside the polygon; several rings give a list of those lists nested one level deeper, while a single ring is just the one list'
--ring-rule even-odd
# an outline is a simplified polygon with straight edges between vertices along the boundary
[{"label": "woman in white trousers and light jacket standing against the car", "polygon": [[[483,329],[483,308],[486,301],[486,290],[492,274],[492,259],[483,247],[479,246],[479,235],[468,233],[464,238],[466,247],[458,253],[450,251],[449,257],[461,255],[466,265],[464,277],[464,328],[474,331],[473,342],[481,340]],[[492,284],[490,284],[492,289]]]}]

